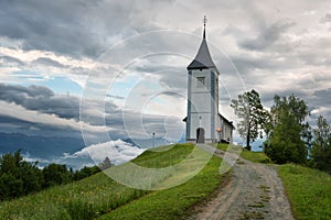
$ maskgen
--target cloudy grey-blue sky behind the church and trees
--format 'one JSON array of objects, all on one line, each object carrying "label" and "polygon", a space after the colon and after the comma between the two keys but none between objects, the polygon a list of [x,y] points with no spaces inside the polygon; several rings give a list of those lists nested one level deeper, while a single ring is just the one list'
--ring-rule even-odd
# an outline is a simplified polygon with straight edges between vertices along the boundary
[{"label": "cloudy grey-blue sky behind the church and trees", "polygon": [[266,108],[295,94],[311,124],[331,122],[328,0],[1,0],[0,132],[83,136],[63,158],[105,143],[127,152],[120,140],[152,132],[181,140],[204,15],[222,114],[236,123],[231,99],[255,89]]}]

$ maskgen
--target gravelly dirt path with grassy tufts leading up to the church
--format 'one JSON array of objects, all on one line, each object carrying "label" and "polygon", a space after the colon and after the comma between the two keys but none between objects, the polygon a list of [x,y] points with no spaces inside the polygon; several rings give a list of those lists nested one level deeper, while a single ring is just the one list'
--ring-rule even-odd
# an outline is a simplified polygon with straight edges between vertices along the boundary
[{"label": "gravelly dirt path with grassy tufts leading up to the church", "polygon": [[[211,147],[203,145],[203,148],[214,151]],[[224,157],[225,152],[216,150],[214,154]],[[225,160],[234,163],[236,157],[227,153]],[[189,218],[190,220],[293,219],[275,166],[252,163],[239,157],[233,172],[231,183],[220,189],[214,199],[200,207],[200,212]]]}]

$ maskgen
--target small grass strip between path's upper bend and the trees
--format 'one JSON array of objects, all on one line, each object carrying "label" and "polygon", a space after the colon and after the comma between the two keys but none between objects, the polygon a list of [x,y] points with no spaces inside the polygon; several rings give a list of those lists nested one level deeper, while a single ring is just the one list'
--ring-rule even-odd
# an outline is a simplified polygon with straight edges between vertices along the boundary
[{"label": "small grass strip between path's upper bend and the trees", "polygon": [[271,160],[264,152],[250,152],[238,145],[223,143],[217,144],[217,148],[239,154],[239,156],[242,156],[243,158],[254,163],[271,163]]}]

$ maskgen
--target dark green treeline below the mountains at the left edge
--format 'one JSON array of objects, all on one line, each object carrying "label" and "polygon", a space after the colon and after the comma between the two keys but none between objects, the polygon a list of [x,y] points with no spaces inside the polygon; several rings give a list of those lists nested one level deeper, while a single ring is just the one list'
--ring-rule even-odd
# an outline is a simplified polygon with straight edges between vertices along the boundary
[{"label": "dark green treeline below the mountains at the left edge", "polygon": [[40,169],[38,162],[23,160],[21,152],[0,157],[0,200],[24,196],[44,188],[67,184],[100,172],[98,166],[84,167],[76,173],[65,165],[50,164]]}]

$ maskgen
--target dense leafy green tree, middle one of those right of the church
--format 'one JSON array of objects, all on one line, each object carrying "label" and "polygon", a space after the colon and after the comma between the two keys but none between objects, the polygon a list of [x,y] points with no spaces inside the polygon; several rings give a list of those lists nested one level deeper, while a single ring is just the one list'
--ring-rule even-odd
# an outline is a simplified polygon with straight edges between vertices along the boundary
[{"label": "dense leafy green tree, middle one of those right of the church", "polygon": [[309,124],[305,123],[309,114],[303,100],[290,95],[289,97],[275,96],[271,107],[270,130],[265,142],[265,153],[275,163],[303,163],[307,158],[307,143]]}]

